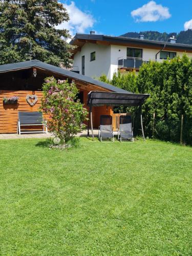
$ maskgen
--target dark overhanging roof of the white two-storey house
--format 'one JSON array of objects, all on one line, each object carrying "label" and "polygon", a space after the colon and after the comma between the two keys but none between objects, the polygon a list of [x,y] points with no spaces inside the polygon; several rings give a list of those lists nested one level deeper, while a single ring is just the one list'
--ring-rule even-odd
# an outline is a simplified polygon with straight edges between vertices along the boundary
[{"label": "dark overhanging roof of the white two-storey house", "polygon": [[[186,51],[192,52],[192,45],[185,44],[173,44],[171,42],[165,41],[155,41],[140,38],[131,38],[125,36],[107,36],[107,35],[91,35],[91,34],[76,34],[70,41],[71,45],[77,45],[82,47],[86,42],[95,42],[95,44],[104,45],[123,45],[123,46],[135,46],[135,47],[146,47],[152,49],[162,49],[166,45],[165,50],[175,50],[175,51]],[[75,53],[78,50],[74,50]]]}]

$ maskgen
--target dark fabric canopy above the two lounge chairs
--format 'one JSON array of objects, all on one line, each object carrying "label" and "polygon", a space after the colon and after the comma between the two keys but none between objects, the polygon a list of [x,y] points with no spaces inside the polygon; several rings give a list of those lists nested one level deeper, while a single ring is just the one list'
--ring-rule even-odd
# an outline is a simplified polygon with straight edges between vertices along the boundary
[{"label": "dark fabric canopy above the two lounge chairs", "polygon": [[91,91],[88,94],[88,106],[139,106],[149,96],[150,94]]}]

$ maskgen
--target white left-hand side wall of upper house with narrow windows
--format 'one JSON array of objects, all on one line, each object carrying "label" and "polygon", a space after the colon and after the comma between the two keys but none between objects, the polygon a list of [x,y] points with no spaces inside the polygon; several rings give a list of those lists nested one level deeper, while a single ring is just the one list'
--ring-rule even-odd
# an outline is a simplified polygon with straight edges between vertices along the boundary
[{"label": "white left-hand side wall of upper house with narrow windows", "polygon": [[[90,61],[91,52],[95,52],[95,60]],[[84,55],[84,75],[98,78],[102,74],[109,77],[111,62],[111,46],[85,44],[74,56],[73,66],[79,67],[82,74],[81,57]]]}]

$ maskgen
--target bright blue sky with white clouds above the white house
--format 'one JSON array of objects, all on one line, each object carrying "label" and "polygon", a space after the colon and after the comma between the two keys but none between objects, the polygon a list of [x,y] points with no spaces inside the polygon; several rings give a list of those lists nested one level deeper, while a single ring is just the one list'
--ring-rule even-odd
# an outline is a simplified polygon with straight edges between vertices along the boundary
[{"label": "bright blue sky with white clouds above the white house", "polygon": [[[64,27],[77,32],[121,35],[153,30],[179,32],[192,29],[191,0],[62,0],[71,20]],[[187,22],[187,23],[186,23]],[[185,27],[184,27],[185,24]]]}]

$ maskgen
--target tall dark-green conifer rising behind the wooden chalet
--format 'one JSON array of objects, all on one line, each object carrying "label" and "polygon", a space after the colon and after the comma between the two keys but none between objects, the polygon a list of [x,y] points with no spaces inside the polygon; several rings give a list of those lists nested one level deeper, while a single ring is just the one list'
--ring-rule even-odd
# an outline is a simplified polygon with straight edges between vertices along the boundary
[{"label": "tall dark-green conifer rising behind the wooden chalet", "polygon": [[55,66],[70,66],[65,7],[57,0],[0,0],[0,64],[38,59]]}]

